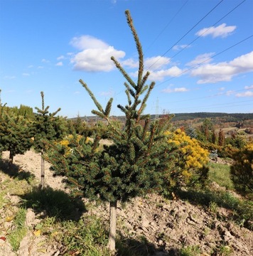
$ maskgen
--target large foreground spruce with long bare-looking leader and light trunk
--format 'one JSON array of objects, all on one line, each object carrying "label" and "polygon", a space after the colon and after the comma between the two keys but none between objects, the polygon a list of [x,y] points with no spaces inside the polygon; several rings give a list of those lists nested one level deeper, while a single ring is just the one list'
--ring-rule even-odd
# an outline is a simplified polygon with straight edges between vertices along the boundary
[{"label": "large foreground spruce with long bare-looking leader and light trunk", "polygon": [[[83,137],[70,139],[66,146],[55,146],[56,150],[48,154],[55,174],[67,177],[67,183],[82,196],[109,202],[109,250],[115,249],[117,202],[128,201],[136,196],[143,196],[151,191],[158,191],[163,185],[163,177],[169,171],[170,149],[165,131],[169,127],[169,117],[163,122],[150,121],[150,115],[144,114],[146,102],[155,83],[146,85],[149,72],[144,74],[144,59],[139,37],[137,36],[129,11],[126,20],[134,36],[139,53],[139,71],[134,82],[112,57],[112,61],[122,73],[126,82],[127,104],[118,105],[125,114],[124,128],[114,126],[109,118],[112,98],[105,109],[99,104],[95,95],[85,82],[80,83],[92,98],[97,110],[92,113],[107,121],[107,137],[113,144],[97,150],[99,134],[94,143]],[[144,121],[144,125],[141,122]]]}]

